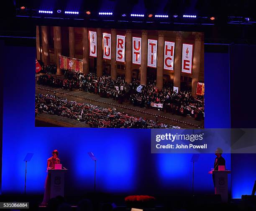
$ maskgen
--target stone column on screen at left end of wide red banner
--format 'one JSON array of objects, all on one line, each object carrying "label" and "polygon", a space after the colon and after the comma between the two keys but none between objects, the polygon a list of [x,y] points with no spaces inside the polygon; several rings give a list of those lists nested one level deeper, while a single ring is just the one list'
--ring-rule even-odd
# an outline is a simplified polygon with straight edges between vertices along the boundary
[{"label": "stone column on screen at left end of wide red banner", "polygon": [[54,55],[55,62],[57,66],[57,73],[61,74],[60,66],[59,66],[59,55],[61,55],[61,27],[54,26]]}]

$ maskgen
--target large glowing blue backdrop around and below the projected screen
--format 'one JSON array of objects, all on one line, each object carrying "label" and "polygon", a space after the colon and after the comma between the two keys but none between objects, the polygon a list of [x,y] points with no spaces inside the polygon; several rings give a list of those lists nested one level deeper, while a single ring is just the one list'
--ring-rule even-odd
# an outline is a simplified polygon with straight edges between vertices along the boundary
[{"label": "large glowing blue backdrop around and below the projected screen", "polygon": [[[3,193],[21,193],[23,158],[28,163],[27,191],[43,193],[46,160],[53,149],[67,174],[67,189],[90,191],[98,158],[97,189],[109,193],[190,193],[190,154],[151,154],[150,130],[34,127],[35,57],[32,47],[5,47],[3,107]],[[205,127],[230,127],[228,53],[205,53]],[[230,169],[230,155],[224,155]],[[195,165],[196,193],[213,193],[214,154],[202,154]]]}]

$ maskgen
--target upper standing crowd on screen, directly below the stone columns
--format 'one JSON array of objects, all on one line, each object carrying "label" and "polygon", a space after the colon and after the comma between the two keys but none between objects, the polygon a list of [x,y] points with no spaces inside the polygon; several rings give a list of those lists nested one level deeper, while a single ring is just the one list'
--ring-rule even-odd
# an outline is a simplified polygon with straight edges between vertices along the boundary
[{"label": "upper standing crowd on screen, directly below the stone columns", "polygon": [[[204,97],[197,96],[194,98],[189,91],[176,93],[170,82],[164,83],[163,89],[159,90],[156,87],[156,81],[148,79],[147,84],[142,85],[141,90],[137,91],[140,81],[133,80],[127,84],[122,76],[112,80],[110,76],[98,78],[95,73],[83,75],[75,71],[65,71],[64,78],[43,74],[38,76],[37,81],[38,84],[56,88],[71,91],[75,88],[84,92],[99,94],[100,97],[113,98],[119,103],[129,101],[138,107],[155,108],[184,117],[194,117],[197,120],[204,118]],[[152,103],[158,106],[152,107]]]}]

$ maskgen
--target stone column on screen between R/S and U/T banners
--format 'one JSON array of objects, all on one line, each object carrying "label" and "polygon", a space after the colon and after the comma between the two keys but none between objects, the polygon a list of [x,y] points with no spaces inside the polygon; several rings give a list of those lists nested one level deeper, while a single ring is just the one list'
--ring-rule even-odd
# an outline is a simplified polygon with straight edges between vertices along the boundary
[{"label": "stone column on screen between R/S and U/T banners", "polygon": [[132,72],[132,33],[131,30],[126,30],[126,46],[125,46],[125,81],[127,84],[131,83]]}]

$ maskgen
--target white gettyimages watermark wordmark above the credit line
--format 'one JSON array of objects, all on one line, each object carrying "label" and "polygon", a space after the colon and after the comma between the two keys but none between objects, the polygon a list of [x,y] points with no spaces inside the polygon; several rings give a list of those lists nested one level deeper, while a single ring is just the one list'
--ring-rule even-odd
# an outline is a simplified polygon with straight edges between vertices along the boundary
[{"label": "white gettyimages watermark wordmark above the credit line", "polygon": [[169,140],[171,142],[174,142],[175,140],[189,140],[191,142],[202,140],[203,139],[203,133],[202,134],[158,134],[156,135],[156,142],[160,142],[161,140]]}]

